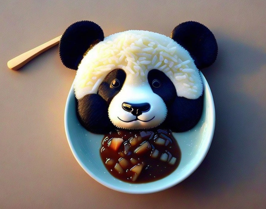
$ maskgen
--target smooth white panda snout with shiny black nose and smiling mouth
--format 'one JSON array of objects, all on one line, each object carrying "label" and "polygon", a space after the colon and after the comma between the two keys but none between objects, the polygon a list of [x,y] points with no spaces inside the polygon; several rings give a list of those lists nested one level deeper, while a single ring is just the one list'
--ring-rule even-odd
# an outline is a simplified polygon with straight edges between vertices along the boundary
[{"label": "smooth white panda snout with shiny black nose and smiling mouth", "polygon": [[159,126],[166,115],[162,97],[153,93],[148,82],[140,86],[124,84],[108,107],[110,121],[124,129],[153,128]]}]

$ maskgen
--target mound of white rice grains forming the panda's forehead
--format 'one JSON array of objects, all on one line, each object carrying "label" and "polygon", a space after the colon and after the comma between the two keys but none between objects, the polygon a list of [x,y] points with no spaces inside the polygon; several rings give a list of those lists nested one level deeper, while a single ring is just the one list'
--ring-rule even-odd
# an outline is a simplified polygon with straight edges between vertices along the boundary
[{"label": "mound of white rice grains forming the panda's forehead", "polygon": [[130,30],[106,37],[84,55],[74,80],[76,98],[96,94],[105,76],[117,68],[131,83],[148,82],[149,70],[158,69],[173,82],[178,96],[202,95],[199,70],[187,50],[162,34]]}]

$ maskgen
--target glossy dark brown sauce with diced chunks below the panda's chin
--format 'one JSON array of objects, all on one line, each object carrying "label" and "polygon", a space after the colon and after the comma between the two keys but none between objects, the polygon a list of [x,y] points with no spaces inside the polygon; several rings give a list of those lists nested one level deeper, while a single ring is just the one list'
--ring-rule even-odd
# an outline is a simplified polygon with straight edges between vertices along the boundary
[{"label": "glossy dark brown sauce with diced chunks below the panda's chin", "polygon": [[114,177],[143,183],[173,172],[180,163],[181,150],[170,130],[115,130],[104,136],[100,155]]}]

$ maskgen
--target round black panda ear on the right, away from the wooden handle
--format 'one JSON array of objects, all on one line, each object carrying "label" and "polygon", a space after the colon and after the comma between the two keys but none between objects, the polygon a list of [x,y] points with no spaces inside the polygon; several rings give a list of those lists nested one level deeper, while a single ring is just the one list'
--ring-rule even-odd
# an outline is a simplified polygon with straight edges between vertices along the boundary
[{"label": "round black panda ear on the right, away from the wooden handle", "polygon": [[210,66],[216,60],[218,46],[213,33],[201,23],[188,21],[179,24],[171,38],[189,51],[198,69]]}]

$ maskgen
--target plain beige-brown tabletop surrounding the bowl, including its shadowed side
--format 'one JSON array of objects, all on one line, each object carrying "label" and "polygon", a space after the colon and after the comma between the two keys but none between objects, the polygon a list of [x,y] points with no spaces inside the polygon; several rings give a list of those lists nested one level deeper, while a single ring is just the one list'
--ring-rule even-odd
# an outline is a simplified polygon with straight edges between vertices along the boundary
[{"label": "plain beige-brown tabletop surrounding the bowl, including its shadowed side", "polygon": [[[4,1],[0,7],[0,208],[263,208],[266,205],[265,1]],[[64,132],[75,71],[54,47],[19,71],[7,61],[92,20],[105,36],[128,29],[170,35],[187,20],[217,38],[203,70],[213,93],[216,130],[200,167],[155,194],[102,186],[76,162]]]}]

